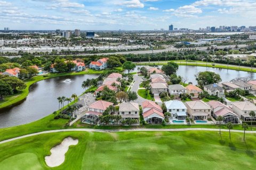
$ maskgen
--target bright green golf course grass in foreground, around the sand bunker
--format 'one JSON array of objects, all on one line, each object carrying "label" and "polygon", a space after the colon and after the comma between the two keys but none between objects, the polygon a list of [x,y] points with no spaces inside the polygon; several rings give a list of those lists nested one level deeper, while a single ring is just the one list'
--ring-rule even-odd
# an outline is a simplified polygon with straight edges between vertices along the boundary
[{"label": "bright green golf course grass in foreground, around the sand bunker", "polygon": [[[50,168],[45,156],[67,137],[65,162]],[[221,138],[222,137],[222,138]],[[0,145],[1,169],[255,169],[254,134],[184,132],[61,132]],[[129,161],[127,161],[129,160]]]}]

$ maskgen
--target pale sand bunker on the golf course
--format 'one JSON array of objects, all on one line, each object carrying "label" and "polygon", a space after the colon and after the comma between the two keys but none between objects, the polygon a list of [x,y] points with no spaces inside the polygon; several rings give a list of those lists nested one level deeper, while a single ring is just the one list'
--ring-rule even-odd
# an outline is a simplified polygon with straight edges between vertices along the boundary
[{"label": "pale sand bunker on the golf course", "polygon": [[60,145],[51,149],[51,155],[45,157],[46,165],[49,167],[55,167],[61,165],[65,160],[65,154],[68,151],[70,145],[77,145],[78,139],[72,139],[71,137],[65,138]]}]

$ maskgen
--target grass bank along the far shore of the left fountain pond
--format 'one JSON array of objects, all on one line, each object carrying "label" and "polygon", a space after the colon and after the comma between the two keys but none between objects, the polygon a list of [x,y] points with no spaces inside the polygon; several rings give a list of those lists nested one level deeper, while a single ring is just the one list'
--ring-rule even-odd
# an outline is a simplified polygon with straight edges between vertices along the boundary
[{"label": "grass bank along the far shore of the left fountain pond", "polygon": [[[106,69],[107,70],[107,69]],[[117,67],[114,70],[116,71],[122,71],[122,67]],[[61,76],[67,76],[67,75],[83,75],[83,74],[101,74],[105,70],[92,70],[87,69],[85,71],[81,72],[67,72],[67,73],[48,73],[46,74],[47,77],[44,77],[43,75],[37,75],[31,79],[25,80],[25,83],[27,85],[26,89],[23,89],[19,92],[19,94],[11,95],[11,96],[5,96],[4,100],[0,101],[0,109],[4,107],[9,107],[13,104],[18,103],[19,101],[25,99],[28,96],[29,93],[29,87],[31,84],[34,84],[38,81],[55,78],[55,77],[61,77]]]}]

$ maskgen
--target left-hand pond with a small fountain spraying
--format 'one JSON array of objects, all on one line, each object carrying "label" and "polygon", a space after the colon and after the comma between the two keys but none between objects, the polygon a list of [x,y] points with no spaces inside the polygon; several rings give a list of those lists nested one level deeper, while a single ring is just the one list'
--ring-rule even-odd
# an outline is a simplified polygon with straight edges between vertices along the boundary
[{"label": "left-hand pond with a small fountain spraying", "polygon": [[59,96],[81,95],[85,91],[81,87],[82,82],[97,77],[97,74],[65,76],[32,84],[25,100],[0,111],[0,128],[34,122],[51,114],[59,108]]}]

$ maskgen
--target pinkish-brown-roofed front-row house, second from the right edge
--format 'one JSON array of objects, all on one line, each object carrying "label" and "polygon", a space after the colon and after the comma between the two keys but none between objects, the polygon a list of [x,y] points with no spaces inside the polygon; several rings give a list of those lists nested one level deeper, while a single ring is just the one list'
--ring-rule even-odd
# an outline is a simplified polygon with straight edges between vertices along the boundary
[{"label": "pinkish-brown-roofed front-row house, second from the right edge", "polygon": [[228,122],[231,123],[239,123],[239,116],[234,113],[233,109],[228,107],[225,104],[222,104],[220,101],[209,101],[208,104],[211,107],[212,116],[217,119],[218,116],[223,117],[223,122],[226,124]]}]

